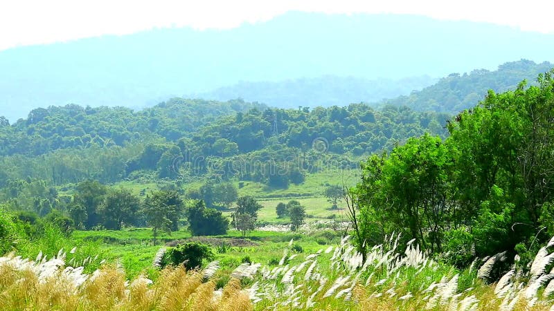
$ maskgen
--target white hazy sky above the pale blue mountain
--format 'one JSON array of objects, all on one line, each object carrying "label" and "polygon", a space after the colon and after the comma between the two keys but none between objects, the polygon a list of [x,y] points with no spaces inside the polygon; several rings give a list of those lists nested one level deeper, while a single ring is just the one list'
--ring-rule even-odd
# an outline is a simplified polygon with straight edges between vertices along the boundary
[{"label": "white hazy sky above the pale blue mountain", "polygon": [[14,0],[0,2],[0,50],[156,27],[232,28],[289,10],[424,15],[554,33],[553,9],[553,0]]}]

